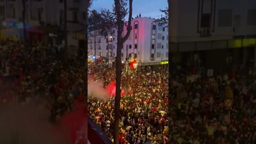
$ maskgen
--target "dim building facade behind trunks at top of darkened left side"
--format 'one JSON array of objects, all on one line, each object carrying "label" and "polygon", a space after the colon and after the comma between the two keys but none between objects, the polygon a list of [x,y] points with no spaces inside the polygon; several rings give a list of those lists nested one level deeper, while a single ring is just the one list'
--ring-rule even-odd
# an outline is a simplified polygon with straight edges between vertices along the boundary
[{"label": "dim building facade behind trunks at top of darkened left side", "polygon": [[[1,25],[4,24],[4,27],[11,28],[12,31],[16,30],[15,35],[19,37],[22,37],[22,10],[21,0],[0,0],[0,18],[1,16],[4,18]],[[63,30],[63,10],[63,0],[28,0],[26,2],[26,30],[29,38],[36,42],[47,42],[51,40],[49,33],[59,34]],[[69,46],[83,45],[83,42],[79,40],[85,40],[85,36],[76,32],[83,31],[85,10],[85,0],[67,1]]]}]

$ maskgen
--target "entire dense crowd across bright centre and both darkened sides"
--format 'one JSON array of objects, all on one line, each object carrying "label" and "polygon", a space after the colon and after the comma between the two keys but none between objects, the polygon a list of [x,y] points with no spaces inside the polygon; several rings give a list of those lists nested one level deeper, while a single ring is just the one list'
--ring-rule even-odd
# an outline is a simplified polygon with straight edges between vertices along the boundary
[{"label": "entire dense crowd across bright centre and both darkened sides", "polygon": [[[51,121],[58,122],[72,110],[75,99],[83,101],[86,95],[87,62],[70,56],[65,64],[62,54],[61,47],[48,44],[30,46],[25,52],[20,42],[2,41],[0,61],[2,68],[9,70],[0,75],[0,106],[46,107]],[[94,62],[88,67],[91,81],[101,81],[106,87],[115,80],[114,68]],[[15,77],[6,78],[7,72]],[[168,74],[151,70],[122,76],[125,94],[121,99],[119,143],[256,143],[253,76],[246,81],[231,74],[209,78],[200,73],[189,81],[191,74],[180,67],[173,68],[171,76],[169,86]],[[167,99],[169,89],[171,101]],[[88,107],[91,118],[111,140],[114,105],[114,98],[92,98]]]}]

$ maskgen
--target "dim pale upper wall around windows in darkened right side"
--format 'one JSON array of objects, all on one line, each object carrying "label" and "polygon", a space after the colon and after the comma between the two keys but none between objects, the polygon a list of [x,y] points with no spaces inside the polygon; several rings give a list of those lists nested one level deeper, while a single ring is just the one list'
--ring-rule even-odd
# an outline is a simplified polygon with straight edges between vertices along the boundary
[{"label": "dim pale upper wall around windows in darkened right side", "polygon": [[[214,41],[221,39],[232,39],[236,35],[255,35],[256,26],[247,26],[247,10],[256,9],[256,1],[254,0],[215,0],[215,25],[211,22],[211,29],[214,31],[209,37],[201,37],[197,33],[197,17],[199,0],[173,0],[170,9],[170,37],[171,42],[195,42],[195,41]],[[201,0],[202,2],[202,0]],[[214,0],[213,0],[214,5]],[[201,9],[201,7],[199,7]],[[219,27],[219,10],[231,9],[232,25],[230,27]],[[237,28],[237,32],[233,33],[234,15],[241,15],[241,26]],[[213,15],[212,15],[213,16]],[[201,16],[199,18],[199,27]]]}]

